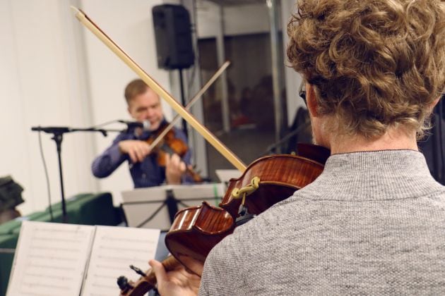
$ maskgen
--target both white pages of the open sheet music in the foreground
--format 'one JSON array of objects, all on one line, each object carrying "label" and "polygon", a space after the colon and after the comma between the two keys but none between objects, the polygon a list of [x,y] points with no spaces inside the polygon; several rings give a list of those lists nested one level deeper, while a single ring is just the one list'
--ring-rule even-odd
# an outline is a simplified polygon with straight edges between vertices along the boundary
[{"label": "both white pages of the open sheet music in the foreground", "polygon": [[[23,221],[7,296],[113,295],[148,269],[160,230]],[[83,287],[83,288],[82,288]]]}]

